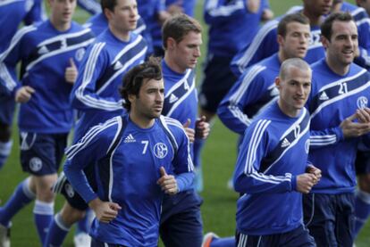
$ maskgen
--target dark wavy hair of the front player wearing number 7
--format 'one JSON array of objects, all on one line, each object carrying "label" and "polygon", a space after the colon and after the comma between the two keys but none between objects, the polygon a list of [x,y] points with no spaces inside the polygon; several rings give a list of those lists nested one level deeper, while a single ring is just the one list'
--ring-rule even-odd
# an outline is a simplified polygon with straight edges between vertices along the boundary
[{"label": "dark wavy hair of the front player wearing number 7", "polygon": [[139,97],[139,91],[145,79],[160,80],[161,78],[161,59],[158,57],[151,56],[147,62],[143,62],[127,71],[122,79],[122,86],[120,88],[120,94],[124,100],[124,103],[122,103],[123,107],[127,111],[130,111],[131,103],[129,101],[129,95]]}]

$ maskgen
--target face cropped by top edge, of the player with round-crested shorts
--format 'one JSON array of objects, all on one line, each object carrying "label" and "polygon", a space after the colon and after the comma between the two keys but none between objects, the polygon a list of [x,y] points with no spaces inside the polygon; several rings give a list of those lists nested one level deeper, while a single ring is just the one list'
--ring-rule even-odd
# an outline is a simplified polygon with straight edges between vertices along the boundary
[{"label": "face cropped by top edge, of the player with round-crested shorts", "polygon": [[56,28],[71,23],[74,9],[76,8],[76,0],[50,0],[50,19]]}]

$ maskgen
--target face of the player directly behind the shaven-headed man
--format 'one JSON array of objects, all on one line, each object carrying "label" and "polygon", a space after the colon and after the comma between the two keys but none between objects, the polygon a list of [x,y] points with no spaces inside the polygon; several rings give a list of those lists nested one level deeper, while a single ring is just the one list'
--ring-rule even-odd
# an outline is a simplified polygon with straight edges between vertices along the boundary
[{"label": "face of the player directly behind the shaven-headed man", "polygon": [[290,22],[287,25],[285,37],[278,37],[278,42],[282,46],[282,55],[288,58],[304,58],[307,54],[310,39],[309,25],[299,22]]}]

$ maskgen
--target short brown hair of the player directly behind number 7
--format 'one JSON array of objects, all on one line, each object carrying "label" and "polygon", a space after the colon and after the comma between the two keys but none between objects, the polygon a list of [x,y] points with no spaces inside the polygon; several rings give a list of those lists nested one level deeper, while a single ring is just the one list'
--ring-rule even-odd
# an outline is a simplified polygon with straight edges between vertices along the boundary
[{"label": "short brown hair of the player directly behind number 7", "polygon": [[199,22],[185,13],[176,14],[167,21],[162,27],[162,42],[164,49],[167,48],[167,39],[172,37],[176,43],[180,43],[182,38],[189,32],[201,33],[202,27]]}]

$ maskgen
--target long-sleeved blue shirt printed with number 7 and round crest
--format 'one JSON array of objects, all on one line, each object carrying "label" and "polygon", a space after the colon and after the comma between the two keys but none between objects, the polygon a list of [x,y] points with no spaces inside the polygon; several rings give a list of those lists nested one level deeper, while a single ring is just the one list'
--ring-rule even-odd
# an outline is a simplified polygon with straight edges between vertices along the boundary
[{"label": "long-sleeved blue shirt printed with number 7 and round crest", "polygon": [[[90,233],[104,243],[156,246],[163,198],[156,184],[160,168],[175,174],[180,191],[192,184],[189,139],[170,118],[160,117],[150,128],[139,128],[129,114],[109,119],[66,154],[65,175],[86,202],[99,197],[122,207],[109,224],[94,220]],[[97,193],[83,173],[91,164],[96,164]]]}]

